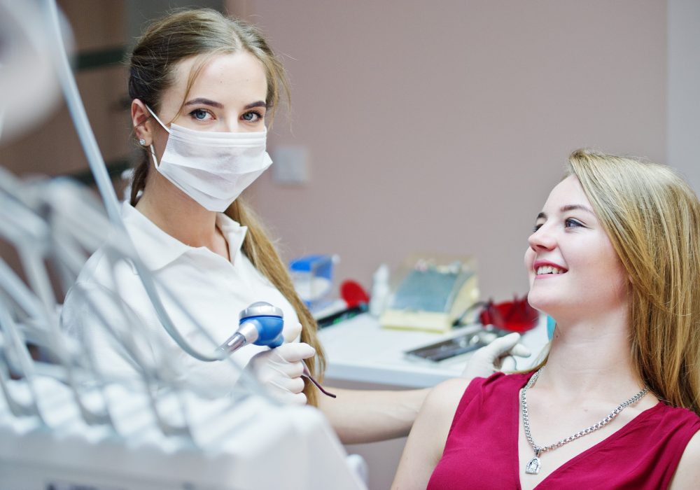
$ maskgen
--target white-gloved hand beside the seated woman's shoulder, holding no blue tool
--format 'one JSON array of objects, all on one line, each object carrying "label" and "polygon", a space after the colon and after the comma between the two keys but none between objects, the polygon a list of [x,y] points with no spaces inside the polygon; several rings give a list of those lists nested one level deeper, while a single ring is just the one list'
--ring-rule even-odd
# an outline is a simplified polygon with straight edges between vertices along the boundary
[{"label": "white-gloved hand beside the seated woman's shoulder, holding no blue tool", "polygon": [[526,346],[518,344],[520,334],[509,333],[474,352],[464,367],[462,377],[489,377],[496,371],[514,371],[515,359],[511,356],[529,357]]}]

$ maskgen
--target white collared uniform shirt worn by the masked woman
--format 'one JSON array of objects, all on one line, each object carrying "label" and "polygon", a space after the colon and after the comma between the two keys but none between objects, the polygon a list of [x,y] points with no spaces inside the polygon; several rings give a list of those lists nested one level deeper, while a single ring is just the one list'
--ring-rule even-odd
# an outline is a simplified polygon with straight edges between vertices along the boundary
[{"label": "white collared uniform shirt worn by the masked woman", "polygon": [[[122,218],[141,260],[153,274],[172,322],[199,351],[213,355],[215,347],[237,329],[240,311],[253,302],[266,301],[281,308],[283,331],[299,321],[292,305],[241,252],[247,228],[225,214],[217,215],[216,225],[228,241],[231,262],[209,248],[183,244],[127,202],[122,207]],[[137,334],[138,350],[149,364],[169,361],[167,367],[161,365],[161,373],[168,378],[194,382],[212,396],[230,393],[239,377],[238,370],[230,363],[207,363],[183,351],[158,320],[133,263],[110,262],[104,247],[87,260],[66,295],[61,315],[64,328],[87,342],[87,354],[94,365],[105,374],[134,373],[134,367],[118,353],[120,348],[109,331],[100,326],[102,317],[117,330],[129,325]],[[202,335],[183,308],[214,337],[214,344]],[[155,339],[146,342],[143,335]],[[244,346],[232,358],[243,366],[255,353],[266,349]]]}]

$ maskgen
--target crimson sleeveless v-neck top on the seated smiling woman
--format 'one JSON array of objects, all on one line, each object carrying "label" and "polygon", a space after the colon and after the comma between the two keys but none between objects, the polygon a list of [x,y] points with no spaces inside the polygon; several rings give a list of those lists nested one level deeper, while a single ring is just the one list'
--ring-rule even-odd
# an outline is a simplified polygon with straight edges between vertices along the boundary
[{"label": "crimson sleeveless v-neck top on the seated smiling woman", "polygon": [[[520,489],[519,391],[532,373],[474,379],[452,420],[428,490]],[[665,489],[700,416],[663,402],[571,458],[535,488]]]}]

